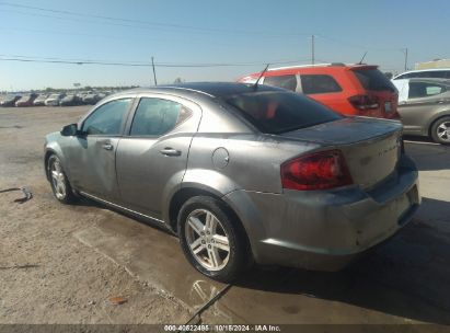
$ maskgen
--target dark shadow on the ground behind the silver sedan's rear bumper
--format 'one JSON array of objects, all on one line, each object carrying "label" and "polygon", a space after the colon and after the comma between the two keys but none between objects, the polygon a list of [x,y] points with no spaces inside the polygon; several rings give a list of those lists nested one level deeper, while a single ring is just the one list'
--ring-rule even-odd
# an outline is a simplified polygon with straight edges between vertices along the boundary
[{"label": "dark shadow on the ground behind the silver sedan's rear bumper", "polygon": [[[424,205],[450,213],[447,202],[426,199]],[[450,324],[450,219],[436,223],[413,220],[393,239],[341,272],[257,267],[238,285]]]}]

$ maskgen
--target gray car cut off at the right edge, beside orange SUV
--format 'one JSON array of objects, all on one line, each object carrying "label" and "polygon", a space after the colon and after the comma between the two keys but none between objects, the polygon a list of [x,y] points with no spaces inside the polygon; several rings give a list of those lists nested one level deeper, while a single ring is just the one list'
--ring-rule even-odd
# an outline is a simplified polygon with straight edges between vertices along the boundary
[{"label": "gray car cut off at the right edge, beside orange SUV", "polygon": [[404,134],[450,145],[450,80],[401,79],[393,83],[399,90],[397,110]]}]

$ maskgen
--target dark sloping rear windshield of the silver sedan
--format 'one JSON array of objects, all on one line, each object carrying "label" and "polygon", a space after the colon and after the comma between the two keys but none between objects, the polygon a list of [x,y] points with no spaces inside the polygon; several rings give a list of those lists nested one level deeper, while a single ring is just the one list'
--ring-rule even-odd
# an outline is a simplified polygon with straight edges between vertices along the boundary
[{"label": "dark sloping rear windshield of the silver sedan", "polygon": [[223,100],[267,134],[287,133],[343,117],[309,97],[289,92],[256,91]]}]

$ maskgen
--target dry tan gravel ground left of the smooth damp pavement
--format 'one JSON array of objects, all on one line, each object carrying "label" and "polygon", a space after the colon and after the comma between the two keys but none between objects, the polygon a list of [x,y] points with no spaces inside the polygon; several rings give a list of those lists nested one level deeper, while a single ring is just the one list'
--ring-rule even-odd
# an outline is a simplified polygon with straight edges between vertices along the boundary
[{"label": "dry tan gravel ground left of the smooth damp pavement", "polygon": [[0,190],[27,186],[34,195],[19,204],[20,192],[0,194],[0,323],[184,323],[189,312],[176,299],[73,237],[113,213],[51,195],[44,136],[86,110],[0,110]]}]

